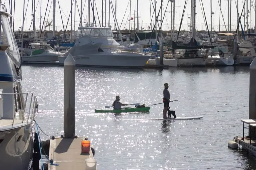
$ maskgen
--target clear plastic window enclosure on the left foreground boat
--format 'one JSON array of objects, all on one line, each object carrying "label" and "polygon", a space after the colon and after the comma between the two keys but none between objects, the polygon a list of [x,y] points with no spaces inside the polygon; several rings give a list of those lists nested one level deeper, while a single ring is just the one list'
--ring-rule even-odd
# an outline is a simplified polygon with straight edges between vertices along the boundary
[{"label": "clear plastic window enclosure on the left foreground boat", "polygon": [[6,15],[0,15],[1,17],[1,44],[10,45],[8,52],[12,59],[15,59],[16,62],[20,61],[19,58],[19,50],[17,46],[17,42],[15,40],[9,19]]}]

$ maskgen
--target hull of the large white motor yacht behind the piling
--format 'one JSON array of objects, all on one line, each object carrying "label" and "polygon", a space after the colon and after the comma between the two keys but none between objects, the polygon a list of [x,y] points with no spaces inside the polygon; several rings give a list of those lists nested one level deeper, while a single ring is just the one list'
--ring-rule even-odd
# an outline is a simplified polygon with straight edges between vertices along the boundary
[{"label": "hull of the large white motor yacht behind the piling", "polygon": [[[97,66],[97,67],[144,67],[150,55],[136,55],[136,53],[122,52],[106,55],[80,55],[73,56],[76,65]],[[63,65],[66,56],[59,56],[59,64]]]}]

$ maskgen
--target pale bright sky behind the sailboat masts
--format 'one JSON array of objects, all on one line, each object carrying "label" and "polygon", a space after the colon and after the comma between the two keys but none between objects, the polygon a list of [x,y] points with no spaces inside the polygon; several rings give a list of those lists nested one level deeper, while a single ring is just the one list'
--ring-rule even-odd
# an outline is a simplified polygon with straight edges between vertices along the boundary
[{"label": "pale bright sky behind the sailboat masts", "polygon": [[[9,5],[9,1],[10,0],[2,0],[2,3],[4,3],[7,7],[8,12],[10,13],[10,5]],[[14,3],[14,0],[12,0]],[[47,2],[48,0],[35,0],[35,4],[36,4],[36,29],[40,30],[40,1],[42,1],[42,21],[41,23],[43,24],[43,19],[46,13],[46,17],[45,17],[45,21],[51,22],[52,21],[52,16],[53,16],[53,8],[52,8],[52,1],[53,0],[49,0],[49,4],[48,4],[48,8],[46,8],[47,6]],[[57,31],[63,29],[63,25],[62,25],[62,21],[61,21],[61,14],[62,14],[62,18],[63,18],[63,23],[64,23],[64,27],[66,27],[67,23],[68,23],[68,16],[70,14],[70,10],[71,10],[71,1],[75,1],[75,0],[59,0],[59,4],[58,4],[58,0],[56,0],[56,29]],[[91,0],[93,3],[93,0]],[[117,22],[118,25],[120,27],[120,30],[123,30],[124,28],[129,29],[129,21],[127,21],[129,19],[129,15],[130,15],[130,4],[129,2],[131,1],[131,17],[134,18],[134,10],[136,10],[136,28],[137,28],[137,0],[106,0],[106,9],[107,9],[107,18],[106,18],[106,25],[108,25],[108,8],[109,8],[109,1],[112,1],[113,6],[115,8],[115,3],[117,4],[116,6],[116,18],[117,18]],[[115,2],[116,1],[116,2]],[[151,0],[138,0],[138,14],[139,14],[139,28],[144,28],[145,30],[147,30],[149,28],[150,25],[150,1]],[[152,0],[154,3],[154,0]],[[206,21],[210,30],[210,14],[211,14],[211,10],[210,10],[210,0],[202,0],[203,1],[203,6],[204,6],[204,10],[205,10],[205,15],[206,15]],[[220,0],[219,0],[220,1]],[[237,10],[236,10],[236,5],[235,5],[235,1],[238,1],[238,10],[239,13],[241,13],[242,8],[243,8],[243,3],[244,0],[232,0],[232,5],[231,5],[231,31],[232,30],[236,30],[237,28]],[[250,5],[250,1],[252,5]],[[87,22],[88,20],[88,0],[82,0],[83,2],[83,22]],[[201,0],[196,0],[196,30],[206,30],[205,24],[204,24],[204,15],[202,12],[202,8],[201,8]],[[23,0],[16,0],[16,4],[15,4],[15,18],[14,18],[14,30],[18,30],[19,27],[22,27],[22,14],[23,14]],[[72,30],[77,29],[80,23],[80,18],[79,18],[79,13],[78,10],[80,12],[80,4],[81,4],[81,0],[76,0],[76,13],[75,13],[75,5],[73,4],[73,8],[72,8]],[[99,14],[99,19],[101,22],[101,3],[102,0],[95,0],[95,5],[97,7],[98,10],[98,14]],[[171,2],[169,2],[168,6],[167,6],[168,0],[164,0],[163,2],[163,8],[162,8],[162,16],[164,16],[164,11],[167,7],[166,10],[166,14],[165,14],[165,18],[163,19],[163,25],[162,28],[163,30],[170,30],[171,27]],[[105,0],[104,0],[104,5],[105,5]],[[181,22],[181,18],[182,18],[182,13],[183,13],[183,8],[185,5],[185,0],[176,0],[175,2],[175,28],[176,30],[179,29],[179,25]],[[14,6],[14,5],[13,5]],[[157,0],[157,5],[156,5],[156,11],[158,13],[159,9],[161,6],[161,0]],[[221,15],[221,20],[220,20],[220,31],[225,31],[226,28],[224,26],[224,22],[226,24],[227,27],[227,23],[228,23],[228,1],[227,0],[221,0],[221,10],[222,10],[222,14],[224,16],[224,21]],[[128,7],[128,8],[127,8]],[[249,28],[252,27],[254,28],[255,26],[255,2],[254,0],[248,0],[248,12],[250,11],[250,7],[251,7],[251,15],[250,13],[248,14],[248,25]],[[184,19],[182,22],[182,27],[181,30],[189,30],[189,24],[190,24],[190,8],[191,8],[191,0],[188,0],[187,6],[186,6],[186,10],[185,10],[185,14],[184,14]],[[13,7],[14,9],[14,7]],[[127,10],[126,10],[127,9]],[[111,8],[110,8],[111,10]],[[26,12],[27,11],[27,12]],[[126,11],[126,12],[125,12]],[[25,21],[24,21],[24,30],[29,30],[30,25],[31,25],[31,21],[32,21],[32,0],[25,0]],[[212,15],[212,26],[214,28],[215,31],[219,31],[219,12],[220,12],[220,7],[218,4],[218,0],[212,0],[212,12],[214,12],[214,14]],[[153,15],[154,11],[153,11],[153,7],[151,4],[151,13]],[[96,24],[97,26],[99,26],[99,21],[98,21],[98,16],[96,13],[96,10],[94,12],[95,14],[95,18],[96,18]],[[74,18],[74,16],[76,18]],[[104,26],[105,26],[105,6],[104,6]],[[160,19],[160,17],[158,18]],[[123,20],[123,22],[122,22]],[[153,17],[153,20],[155,20],[155,18]],[[75,25],[74,25],[74,21],[75,21]],[[90,12],[90,22],[93,21],[93,13],[92,10]],[[244,27],[244,17],[241,18],[241,22],[242,25]],[[154,21],[153,21],[154,23]],[[246,18],[245,18],[245,23],[246,23]],[[112,11],[110,12],[110,25],[112,26],[112,28],[114,28],[114,17],[112,14]],[[45,26],[45,24],[44,24]],[[84,26],[84,25],[83,25]],[[52,27],[52,26],[51,26]],[[69,23],[67,26],[67,30],[70,30],[70,19],[69,19]],[[31,26],[30,30],[32,30],[33,27]],[[47,28],[49,29],[49,28]],[[131,29],[134,29],[134,20],[131,20]],[[241,30],[241,28],[239,28]],[[52,28],[51,28],[52,30]]]}]

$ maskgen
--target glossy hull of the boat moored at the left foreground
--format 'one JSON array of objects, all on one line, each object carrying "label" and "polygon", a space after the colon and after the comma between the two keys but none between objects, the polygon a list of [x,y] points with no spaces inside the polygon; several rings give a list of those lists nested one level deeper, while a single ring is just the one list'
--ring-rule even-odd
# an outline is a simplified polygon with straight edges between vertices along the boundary
[{"label": "glossy hull of the boat moored at the left foreground", "polygon": [[0,131],[1,167],[28,170],[33,156],[34,125],[30,123]]}]

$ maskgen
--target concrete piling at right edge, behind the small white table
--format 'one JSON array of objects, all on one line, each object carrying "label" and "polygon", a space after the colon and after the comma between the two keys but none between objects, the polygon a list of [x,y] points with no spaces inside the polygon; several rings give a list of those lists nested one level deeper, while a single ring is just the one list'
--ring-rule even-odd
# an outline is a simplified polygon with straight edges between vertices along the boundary
[{"label": "concrete piling at right edge, behind the small white table", "polygon": [[[250,88],[249,88],[249,119],[256,119],[256,59],[254,58],[250,64]],[[250,138],[256,138],[256,132],[251,133],[249,127]]]}]

